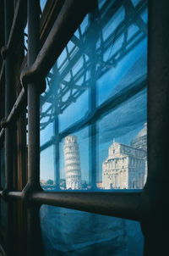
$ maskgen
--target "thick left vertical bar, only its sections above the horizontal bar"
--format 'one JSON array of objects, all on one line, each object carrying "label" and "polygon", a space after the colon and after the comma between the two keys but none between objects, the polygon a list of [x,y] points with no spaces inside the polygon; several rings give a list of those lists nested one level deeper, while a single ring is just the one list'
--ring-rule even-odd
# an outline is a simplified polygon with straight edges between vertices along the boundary
[{"label": "thick left vertical bar, only its sections above the horizontal bar", "polygon": [[[38,1],[28,1],[28,66],[40,48]],[[28,183],[40,186],[40,86],[28,84]]]}]

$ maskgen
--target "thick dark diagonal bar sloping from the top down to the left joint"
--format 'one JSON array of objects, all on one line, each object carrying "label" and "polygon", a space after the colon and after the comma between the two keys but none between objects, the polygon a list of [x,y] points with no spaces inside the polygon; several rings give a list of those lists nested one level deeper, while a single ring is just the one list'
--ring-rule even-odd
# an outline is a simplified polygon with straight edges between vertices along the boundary
[{"label": "thick dark diagonal bar sloping from the top down to the left joint", "polygon": [[93,1],[90,0],[65,1],[35,62],[28,69],[22,71],[21,81],[23,84],[38,81],[42,74],[44,77],[47,75],[92,5]]}]

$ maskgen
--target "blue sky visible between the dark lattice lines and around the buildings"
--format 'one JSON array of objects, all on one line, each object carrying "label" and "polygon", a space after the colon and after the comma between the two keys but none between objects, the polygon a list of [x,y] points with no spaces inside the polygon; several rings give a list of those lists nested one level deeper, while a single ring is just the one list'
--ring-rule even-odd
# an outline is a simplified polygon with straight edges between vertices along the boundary
[{"label": "blue sky visible between the dark lattice lines and around the buildings", "polygon": [[[122,11],[123,15],[123,11]],[[146,14],[143,14],[144,20],[146,20]],[[119,19],[120,15],[119,15]],[[116,19],[117,20],[117,19]],[[117,20],[118,23],[118,20]],[[85,19],[85,26],[88,21]],[[107,30],[112,30],[111,25],[107,26]],[[133,26],[130,29],[132,34],[135,31]],[[105,32],[108,34],[108,31]],[[77,35],[77,31],[76,31]],[[122,44],[123,37],[118,41],[118,44]],[[71,44],[69,43],[70,48]],[[115,46],[119,47],[119,46]],[[115,51],[113,47],[110,47],[104,58],[110,58]],[[139,76],[146,74],[146,56],[147,56],[147,39],[142,40],[137,47],[129,52],[124,58],[122,58],[116,66],[112,66],[105,75],[96,81],[96,99],[97,105],[103,103],[112,94],[120,91],[124,86],[128,86],[131,82],[137,80]],[[59,63],[63,63],[65,53],[61,54]],[[79,65],[81,63],[79,62]],[[78,67],[76,66],[76,69]],[[144,123],[147,120],[147,98],[146,90],[140,92],[135,97],[129,99],[126,103],[118,106],[117,109],[113,109],[111,113],[107,114],[101,120],[98,120],[97,125],[97,179],[101,181],[101,164],[106,159],[108,154],[108,147],[112,144],[113,138],[117,142],[128,144],[143,129]],[[44,106],[44,108],[46,108]],[[77,120],[80,120],[89,110],[89,92],[85,91],[75,103],[72,103],[63,114],[59,115],[59,131],[63,131],[68,128],[69,125],[74,124]],[[50,140],[53,135],[52,124],[48,125],[45,130],[41,131],[41,145]],[[80,163],[82,180],[88,181],[89,178],[89,129],[84,129],[74,133],[77,136],[80,150]],[[60,173],[61,177],[65,177],[64,172],[64,159],[63,159],[63,142],[60,143]],[[41,180],[48,180],[54,178],[54,155],[53,147],[48,147],[41,152]]]}]

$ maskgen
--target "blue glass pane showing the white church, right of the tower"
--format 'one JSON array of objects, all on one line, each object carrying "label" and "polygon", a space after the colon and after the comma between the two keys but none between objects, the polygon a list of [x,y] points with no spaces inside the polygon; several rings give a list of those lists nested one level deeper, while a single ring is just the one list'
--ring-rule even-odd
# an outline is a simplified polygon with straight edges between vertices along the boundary
[{"label": "blue glass pane showing the white church, right of the tower", "polygon": [[[140,189],[147,177],[146,89],[97,122],[103,189]],[[140,108],[142,105],[142,108]]]}]

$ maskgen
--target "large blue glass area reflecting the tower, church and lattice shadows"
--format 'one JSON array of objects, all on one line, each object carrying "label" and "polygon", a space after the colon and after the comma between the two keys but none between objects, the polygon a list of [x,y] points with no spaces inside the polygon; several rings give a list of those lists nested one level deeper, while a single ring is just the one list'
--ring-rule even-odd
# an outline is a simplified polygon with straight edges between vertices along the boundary
[{"label": "large blue glass area reflecting the tower, church and lattice shadows", "polygon": [[144,186],[146,63],[147,2],[98,0],[46,76],[44,189]]}]

